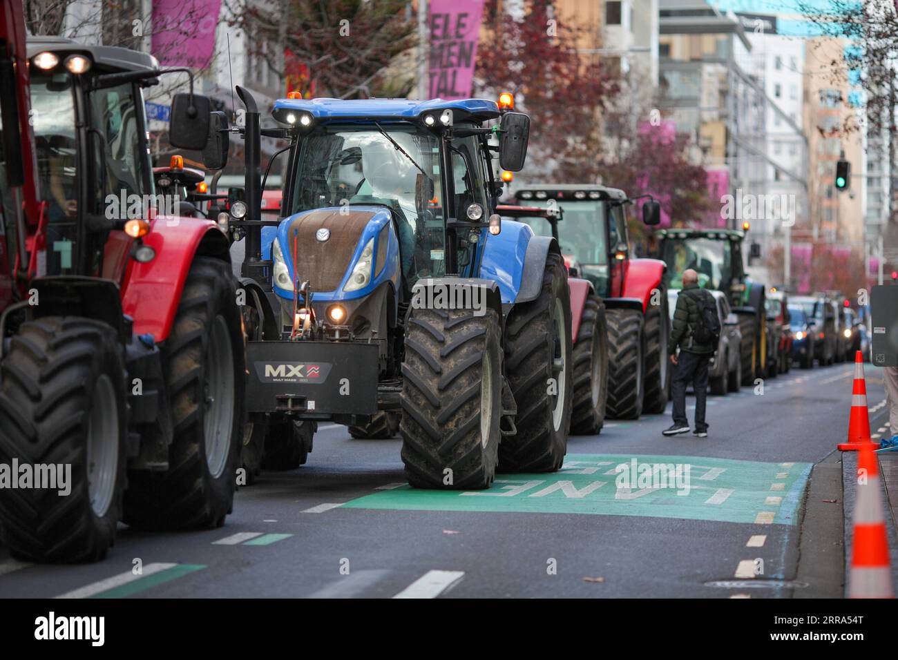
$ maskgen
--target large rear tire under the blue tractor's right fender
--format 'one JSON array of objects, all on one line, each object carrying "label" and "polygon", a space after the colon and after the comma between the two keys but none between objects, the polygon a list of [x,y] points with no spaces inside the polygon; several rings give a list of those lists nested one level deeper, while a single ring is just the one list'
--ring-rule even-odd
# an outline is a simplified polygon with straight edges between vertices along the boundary
[{"label": "large rear tire under the blue tractor's right fender", "polygon": [[499,445],[501,472],[553,472],[568,453],[573,341],[568,271],[550,252],[540,295],[506,321],[505,374],[517,405],[514,436]]}]

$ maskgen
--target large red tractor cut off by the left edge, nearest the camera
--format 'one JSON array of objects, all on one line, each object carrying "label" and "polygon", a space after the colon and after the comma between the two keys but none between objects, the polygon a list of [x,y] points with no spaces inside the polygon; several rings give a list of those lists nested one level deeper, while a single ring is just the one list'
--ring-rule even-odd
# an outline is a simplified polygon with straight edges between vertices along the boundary
[{"label": "large red tractor cut off by the left edge, nearest the camera", "polygon": [[[0,465],[33,478],[0,488],[4,543],[92,561],[119,521],[224,524],[241,313],[225,234],[154,198],[142,89],[165,72],[125,48],[26,44],[22,5],[2,6]],[[208,99],[177,94],[172,145],[208,132]]]}]

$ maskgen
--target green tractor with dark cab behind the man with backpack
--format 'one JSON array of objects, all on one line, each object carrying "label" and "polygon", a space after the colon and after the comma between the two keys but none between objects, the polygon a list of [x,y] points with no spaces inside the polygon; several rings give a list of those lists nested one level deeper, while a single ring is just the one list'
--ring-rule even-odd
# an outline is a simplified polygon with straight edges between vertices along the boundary
[{"label": "green tractor with dark cab behind the man with backpack", "polygon": [[655,233],[657,256],[667,264],[668,289],[682,289],[688,268],[699,273],[699,286],[722,291],[739,318],[742,384],[768,375],[766,287],[745,273],[742,244],[736,229],[661,229]]}]

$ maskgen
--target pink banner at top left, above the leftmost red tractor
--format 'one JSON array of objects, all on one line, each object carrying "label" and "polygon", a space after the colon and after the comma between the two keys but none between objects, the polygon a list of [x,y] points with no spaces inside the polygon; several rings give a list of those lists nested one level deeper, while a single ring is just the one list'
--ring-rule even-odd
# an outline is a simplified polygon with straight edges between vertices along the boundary
[{"label": "pink banner at top left, above the leftmost red tractor", "polygon": [[204,69],[215,52],[221,0],[154,0],[153,55],[162,66]]}]

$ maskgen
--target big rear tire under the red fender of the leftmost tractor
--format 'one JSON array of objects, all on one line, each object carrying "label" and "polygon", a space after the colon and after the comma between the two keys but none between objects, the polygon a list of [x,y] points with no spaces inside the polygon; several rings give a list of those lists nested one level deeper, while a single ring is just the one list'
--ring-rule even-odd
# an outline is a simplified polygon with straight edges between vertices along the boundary
[{"label": "big rear tire under the red fender of the leftmost tractor", "polygon": [[241,316],[224,261],[197,257],[163,344],[173,440],[169,469],[131,471],[124,520],[148,530],[220,527],[241,464]]}]

